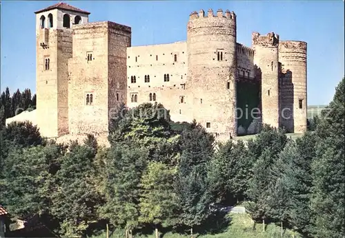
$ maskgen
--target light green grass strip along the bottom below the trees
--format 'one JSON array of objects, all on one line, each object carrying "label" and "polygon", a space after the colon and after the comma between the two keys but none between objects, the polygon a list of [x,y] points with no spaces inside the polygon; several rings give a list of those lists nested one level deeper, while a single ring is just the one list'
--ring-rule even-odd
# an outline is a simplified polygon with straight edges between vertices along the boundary
[{"label": "light green grass strip along the bottom below the trees", "polygon": [[[223,232],[216,234],[195,234],[193,237],[198,238],[276,238],[281,237],[281,228],[275,224],[266,225],[265,231],[262,230],[262,224],[256,224],[248,214],[246,213],[230,213],[228,215],[228,224],[227,228]],[[123,230],[115,230],[112,233],[110,238],[122,238],[124,237]],[[155,234],[152,231],[152,234],[149,235],[134,235],[135,238],[155,238]],[[161,235],[161,238],[186,238],[190,237],[188,233],[179,234],[174,232],[166,232],[164,235]],[[300,237],[297,232],[292,230],[284,229],[283,237],[285,238],[298,238]],[[106,232],[103,232],[101,235],[92,237],[92,238],[106,238]]]}]

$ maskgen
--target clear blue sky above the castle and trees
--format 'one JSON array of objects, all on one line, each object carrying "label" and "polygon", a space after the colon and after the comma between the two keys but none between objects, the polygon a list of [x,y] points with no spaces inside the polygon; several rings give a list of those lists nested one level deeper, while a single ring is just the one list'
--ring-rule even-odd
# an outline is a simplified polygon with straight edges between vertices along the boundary
[{"label": "clear blue sky above the castle and trees", "polygon": [[[1,1],[1,91],[35,90],[34,11],[57,1]],[[66,1],[91,12],[89,21],[132,28],[132,46],[186,40],[190,12],[213,8],[237,14],[237,42],[251,32],[308,43],[308,105],[328,104],[344,76],[342,1]]]}]

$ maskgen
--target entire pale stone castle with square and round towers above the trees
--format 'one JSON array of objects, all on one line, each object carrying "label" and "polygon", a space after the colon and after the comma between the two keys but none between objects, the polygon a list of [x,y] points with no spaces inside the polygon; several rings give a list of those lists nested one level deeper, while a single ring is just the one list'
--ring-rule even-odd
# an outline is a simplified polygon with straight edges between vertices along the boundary
[{"label": "entire pale stone castle with square and round towers above the trees", "polygon": [[107,133],[112,109],[143,102],[161,103],[175,122],[195,119],[219,140],[259,123],[306,131],[303,41],[253,32],[246,47],[228,10],[192,12],[186,41],[135,47],[130,27],[89,23],[90,12],[66,3],[35,14],[43,136]]}]

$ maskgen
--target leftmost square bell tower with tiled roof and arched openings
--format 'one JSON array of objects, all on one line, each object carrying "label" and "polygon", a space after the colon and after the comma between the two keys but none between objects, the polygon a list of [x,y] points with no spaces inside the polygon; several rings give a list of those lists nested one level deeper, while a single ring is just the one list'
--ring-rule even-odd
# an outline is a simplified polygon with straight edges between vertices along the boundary
[{"label": "leftmost square bell tower with tiled roof and arched openings", "polygon": [[68,58],[72,26],[88,23],[86,12],[57,3],[36,14],[37,125],[42,136],[68,133]]}]

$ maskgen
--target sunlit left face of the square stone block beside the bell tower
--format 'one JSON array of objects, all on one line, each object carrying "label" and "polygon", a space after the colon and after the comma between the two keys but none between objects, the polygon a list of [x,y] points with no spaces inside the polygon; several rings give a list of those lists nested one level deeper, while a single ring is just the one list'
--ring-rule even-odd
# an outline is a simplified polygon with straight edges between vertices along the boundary
[{"label": "sunlit left face of the square stone block beside the bell tower", "polygon": [[[88,56],[91,56],[88,60]],[[108,131],[108,23],[73,27],[73,58],[68,63],[70,133]],[[92,104],[86,104],[92,94]]]}]

